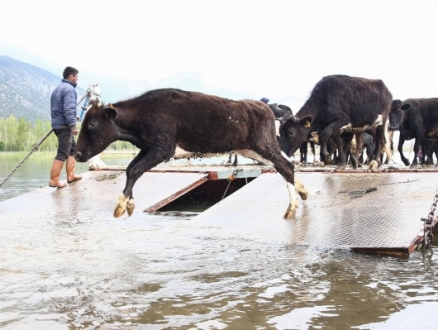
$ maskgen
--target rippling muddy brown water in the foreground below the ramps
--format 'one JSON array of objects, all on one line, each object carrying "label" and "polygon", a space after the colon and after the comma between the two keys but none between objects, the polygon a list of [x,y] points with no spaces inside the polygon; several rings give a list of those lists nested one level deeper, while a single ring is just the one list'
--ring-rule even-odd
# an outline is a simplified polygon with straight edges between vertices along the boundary
[{"label": "rippling muddy brown water in the foreground below the ramps", "polygon": [[0,204],[0,328],[436,328],[436,245],[395,258],[226,237],[197,212],[102,214]]}]

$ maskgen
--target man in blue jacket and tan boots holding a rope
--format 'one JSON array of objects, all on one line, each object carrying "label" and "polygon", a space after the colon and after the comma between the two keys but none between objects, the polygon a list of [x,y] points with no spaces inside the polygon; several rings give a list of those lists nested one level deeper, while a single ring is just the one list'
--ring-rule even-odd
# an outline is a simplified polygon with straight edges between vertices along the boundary
[{"label": "man in blue jacket and tan boots holding a rope", "polygon": [[81,175],[75,174],[76,160],[73,157],[76,150],[74,136],[78,135],[76,127],[78,95],[75,87],[79,79],[79,71],[68,66],[64,69],[63,77],[64,79],[55,88],[50,99],[52,129],[58,137],[58,152],[53,160],[49,181],[49,186],[54,188],[66,186],[65,182],[59,181],[64,162],[66,162],[68,183],[82,179]]}]

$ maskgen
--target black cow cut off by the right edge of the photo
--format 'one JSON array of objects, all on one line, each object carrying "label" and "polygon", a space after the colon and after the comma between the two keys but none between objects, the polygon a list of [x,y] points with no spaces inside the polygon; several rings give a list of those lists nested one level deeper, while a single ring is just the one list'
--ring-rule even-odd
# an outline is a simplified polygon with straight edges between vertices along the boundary
[{"label": "black cow cut off by the right edge of the photo", "polygon": [[409,160],[403,155],[403,143],[415,139],[411,165],[415,167],[423,138],[438,138],[438,98],[394,100],[389,114],[389,130],[400,130],[398,151],[406,166],[409,166]]}]

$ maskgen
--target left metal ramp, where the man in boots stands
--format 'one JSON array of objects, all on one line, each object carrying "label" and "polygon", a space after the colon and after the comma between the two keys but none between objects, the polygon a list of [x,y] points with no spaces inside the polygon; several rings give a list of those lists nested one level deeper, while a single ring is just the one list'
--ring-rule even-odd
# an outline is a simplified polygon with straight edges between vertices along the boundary
[{"label": "left metal ramp, where the man in boots stands", "polygon": [[[134,186],[136,212],[152,212],[207,181],[207,173],[147,172]],[[88,171],[67,188],[48,186],[0,202],[3,214],[45,212],[47,216],[90,216],[110,213],[125,187],[123,171]],[[85,182],[87,181],[87,182]],[[53,213],[53,214],[52,214]]]}]

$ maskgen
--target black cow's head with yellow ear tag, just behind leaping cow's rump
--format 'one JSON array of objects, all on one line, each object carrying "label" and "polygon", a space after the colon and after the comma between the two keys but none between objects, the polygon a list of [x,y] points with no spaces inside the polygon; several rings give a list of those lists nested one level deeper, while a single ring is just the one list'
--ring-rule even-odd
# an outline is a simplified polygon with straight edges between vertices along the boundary
[{"label": "black cow's head with yellow ear tag, just behind leaping cow's rump", "polygon": [[280,118],[280,147],[288,157],[307,140],[312,120],[313,116],[297,118],[287,115]]}]

